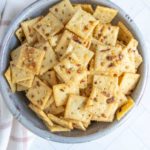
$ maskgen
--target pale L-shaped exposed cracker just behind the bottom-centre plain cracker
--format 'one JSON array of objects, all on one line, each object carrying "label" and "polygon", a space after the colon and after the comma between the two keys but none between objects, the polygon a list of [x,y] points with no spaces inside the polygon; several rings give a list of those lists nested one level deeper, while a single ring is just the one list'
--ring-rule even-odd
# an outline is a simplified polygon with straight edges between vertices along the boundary
[{"label": "pale L-shaped exposed cracker just behind the bottom-centre plain cracker", "polygon": [[57,84],[53,86],[53,94],[56,106],[65,105],[69,94],[79,94],[79,87],[76,84]]}]

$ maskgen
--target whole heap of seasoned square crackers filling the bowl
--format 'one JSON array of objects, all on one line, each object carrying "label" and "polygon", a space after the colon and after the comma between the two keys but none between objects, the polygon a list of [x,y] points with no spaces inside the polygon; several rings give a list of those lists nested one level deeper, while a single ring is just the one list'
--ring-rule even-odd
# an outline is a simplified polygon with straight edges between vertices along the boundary
[{"label": "whole heap of seasoned square crackers filling the bowl", "polygon": [[62,0],[16,31],[21,45],[11,52],[5,77],[51,132],[85,131],[92,121],[120,120],[133,107],[142,57],[124,23],[112,25],[117,13]]}]

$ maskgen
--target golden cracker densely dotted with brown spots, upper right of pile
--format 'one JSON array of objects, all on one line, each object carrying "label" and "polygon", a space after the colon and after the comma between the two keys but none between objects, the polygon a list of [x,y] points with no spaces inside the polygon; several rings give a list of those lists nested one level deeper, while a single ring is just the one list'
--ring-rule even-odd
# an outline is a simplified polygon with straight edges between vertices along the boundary
[{"label": "golden cracker densely dotted with brown spots, upper right of pile", "polygon": [[94,31],[94,37],[105,45],[115,46],[118,38],[119,27],[110,24],[99,24]]}]

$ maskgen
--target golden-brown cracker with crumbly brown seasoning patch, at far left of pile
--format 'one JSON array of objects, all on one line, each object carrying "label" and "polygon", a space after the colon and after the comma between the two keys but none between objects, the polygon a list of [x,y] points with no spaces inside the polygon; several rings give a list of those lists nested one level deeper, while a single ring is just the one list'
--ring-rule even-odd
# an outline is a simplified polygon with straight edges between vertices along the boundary
[{"label": "golden-brown cracker with crumbly brown seasoning patch, at far left of pile", "polygon": [[40,72],[44,56],[44,50],[25,45],[20,49],[16,66],[37,75]]}]

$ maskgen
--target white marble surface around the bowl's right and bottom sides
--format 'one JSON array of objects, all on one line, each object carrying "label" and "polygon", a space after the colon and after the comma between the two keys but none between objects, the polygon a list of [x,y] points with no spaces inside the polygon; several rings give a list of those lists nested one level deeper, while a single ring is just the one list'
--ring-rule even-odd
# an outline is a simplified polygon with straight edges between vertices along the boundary
[{"label": "white marble surface around the bowl's right and bottom sides", "polygon": [[[21,0],[18,1],[18,7]],[[30,1],[27,0],[29,3]],[[141,30],[150,49],[150,0],[112,0],[124,9]],[[29,4],[28,3],[28,4]],[[11,8],[10,8],[11,9]],[[11,14],[14,17],[17,12]],[[6,28],[6,27],[3,27]],[[1,31],[2,33],[4,31]],[[147,49],[149,51],[149,49]],[[150,54],[150,53],[149,53]],[[148,56],[150,59],[150,55]],[[149,74],[150,78],[150,74]],[[84,144],[60,144],[33,136],[29,150],[150,150],[150,79],[133,116],[108,136]]]}]

